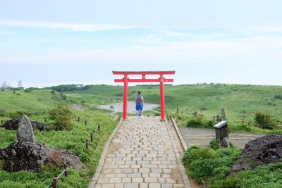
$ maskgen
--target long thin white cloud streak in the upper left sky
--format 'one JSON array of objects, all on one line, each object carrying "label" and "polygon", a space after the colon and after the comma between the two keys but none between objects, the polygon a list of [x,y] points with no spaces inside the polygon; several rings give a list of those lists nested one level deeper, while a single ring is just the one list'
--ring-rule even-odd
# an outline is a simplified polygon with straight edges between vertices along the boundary
[{"label": "long thin white cloud streak in the upper left sky", "polygon": [[100,31],[100,30],[127,30],[135,28],[133,25],[94,25],[94,24],[75,24],[75,23],[41,23],[27,22],[20,20],[0,20],[0,25],[20,26],[20,27],[42,27],[51,29],[68,29],[73,31]]}]

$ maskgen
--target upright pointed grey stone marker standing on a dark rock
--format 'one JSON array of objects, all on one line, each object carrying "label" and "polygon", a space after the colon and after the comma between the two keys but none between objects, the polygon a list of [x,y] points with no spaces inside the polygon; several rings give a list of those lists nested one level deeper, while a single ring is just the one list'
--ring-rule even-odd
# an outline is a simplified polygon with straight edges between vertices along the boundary
[{"label": "upright pointed grey stone marker standing on a dark rock", "polygon": [[32,125],[26,115],[20,118],[17,132],[18,142],[35,142],[35,135],[33,134]]}]

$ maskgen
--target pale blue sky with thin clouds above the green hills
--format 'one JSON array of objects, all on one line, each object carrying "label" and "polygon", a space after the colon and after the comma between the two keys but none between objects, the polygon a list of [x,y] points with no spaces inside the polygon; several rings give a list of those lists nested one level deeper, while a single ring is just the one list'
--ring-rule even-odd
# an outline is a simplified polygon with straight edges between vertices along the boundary
[{"label": "pale blue sky with thin clouds above the green hills", "polygon": [[115,84],[112,70],[176,70],[174,84],[282,85],[281,0],[0,0],[0,83]]}]

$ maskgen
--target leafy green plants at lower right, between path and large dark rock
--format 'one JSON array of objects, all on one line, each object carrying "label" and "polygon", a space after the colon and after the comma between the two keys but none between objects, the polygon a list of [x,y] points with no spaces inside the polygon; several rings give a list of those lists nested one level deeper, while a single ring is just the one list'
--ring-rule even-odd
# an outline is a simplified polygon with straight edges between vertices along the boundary
[{"label": "leafy green plants at lower right, between path and large dark rock", "polygon": [[228,177],[241,149],[217,149],[192,146],[185,152],[183,164],[190,177],[211,188],[282,187],[282,162],[243,170]]}]

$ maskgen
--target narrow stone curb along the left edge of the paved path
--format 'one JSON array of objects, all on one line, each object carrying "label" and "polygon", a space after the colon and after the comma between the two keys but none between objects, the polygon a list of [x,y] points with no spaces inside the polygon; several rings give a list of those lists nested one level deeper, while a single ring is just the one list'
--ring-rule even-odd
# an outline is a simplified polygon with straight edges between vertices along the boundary
[{"label": "narrow stone curb along the left edge of the paved path", "polygon": [[111,140],[114,138],[114,135],[118,131],[119,127],[121,127],[122,123],[123,123],[123,118],[121,117],[121,119],[119,120],[118,125],[116,125],[116,128],[114,129],[114,132],[111,134],[111,136],[109,137],[108,141],[104,145],[104,151],[103,151],[103,153],[101,155],[101,158],[100,158],[100,161],[99,161],[99,165],[97,165],[96,172],[94,173],[88,188],[94,188],[95,187],[95,184],[96,184],[96,182],[98,180],[98,177],[99,177],[99,175],[100,175],[100,173],[102,171],[102,168],[104,166],[104,163],[105,163],[106,153],[108,153],[109,144],[111,143]]}]

